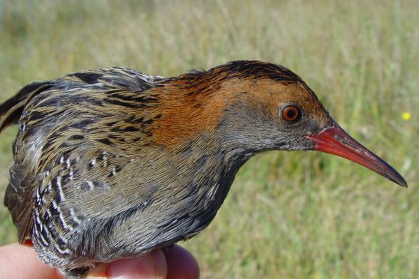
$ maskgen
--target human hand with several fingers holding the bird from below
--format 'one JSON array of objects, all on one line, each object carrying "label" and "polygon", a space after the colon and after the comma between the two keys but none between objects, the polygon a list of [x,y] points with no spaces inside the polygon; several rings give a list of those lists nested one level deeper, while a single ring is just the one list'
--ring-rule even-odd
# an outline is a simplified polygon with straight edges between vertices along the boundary
[{"label": "human hand with several fingers holding the bird from below", "polygon": [[[31,246],[13,243],[0,247],[0,278],[54,279],[63,276],[57,269],[43,264]],[[142,257],[98,264],[87,278],[198,279],[199,267],[190,252],[175,245]]]}]

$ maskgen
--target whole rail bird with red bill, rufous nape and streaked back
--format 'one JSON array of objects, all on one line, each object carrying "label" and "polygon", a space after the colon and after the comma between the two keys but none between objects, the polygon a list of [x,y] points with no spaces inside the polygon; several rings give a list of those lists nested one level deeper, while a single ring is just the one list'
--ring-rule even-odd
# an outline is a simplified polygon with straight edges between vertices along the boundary
[{"label": "whole rail bird with red bill, rufous nape and streaked back", "polygon": [[175,77],[123,67],[33,82],[0,105],[17,123],[4,204],[20,243],[66,278],[191,239],[264,151],[323,151],[403,177],[332,119],[302,79],[240,60]]}]

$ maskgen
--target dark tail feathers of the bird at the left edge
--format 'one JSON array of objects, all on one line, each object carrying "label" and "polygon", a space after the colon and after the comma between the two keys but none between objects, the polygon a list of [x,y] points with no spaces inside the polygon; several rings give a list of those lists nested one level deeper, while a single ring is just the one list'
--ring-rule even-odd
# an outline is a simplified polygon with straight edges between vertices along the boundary
[{"label": "dark tail feathers of the bird at the left edge", "polygon": [[0,105],[0,133],[1,131],[13,123],[17,123],[24,106],[36,94],[49,89],[51,82],[34,82],[24,86],[12,98]]}]

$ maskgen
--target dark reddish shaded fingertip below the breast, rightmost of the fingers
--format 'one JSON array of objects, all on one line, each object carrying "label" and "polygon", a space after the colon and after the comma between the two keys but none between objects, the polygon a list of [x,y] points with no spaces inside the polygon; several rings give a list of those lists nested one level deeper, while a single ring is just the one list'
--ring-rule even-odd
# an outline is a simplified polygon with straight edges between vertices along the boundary
[{"label": "dark reddish shaded fingertip below the breast, rightmost of the fingers", "polygon": [[195,257],[181,246],[164,250],[168,265],[167,279],[198,279],[199,266]]}]

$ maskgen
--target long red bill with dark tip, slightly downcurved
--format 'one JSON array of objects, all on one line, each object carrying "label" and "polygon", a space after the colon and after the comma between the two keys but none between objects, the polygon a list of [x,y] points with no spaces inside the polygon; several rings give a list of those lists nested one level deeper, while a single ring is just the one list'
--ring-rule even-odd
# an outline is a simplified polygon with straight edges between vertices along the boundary
[{"label": "long red bill with dark tip, slightly downcurved", "polygon": [[399,186],[407,187],[406,181],[395,169],[362,144],[353,140],[335,121],[332,126],[325,128],[320,133],[307,137],[316,143],[314,150],[346,158],[381,174]]}]

